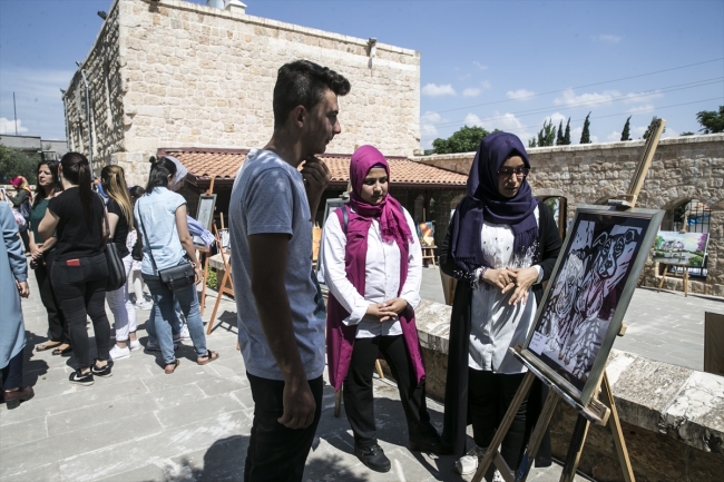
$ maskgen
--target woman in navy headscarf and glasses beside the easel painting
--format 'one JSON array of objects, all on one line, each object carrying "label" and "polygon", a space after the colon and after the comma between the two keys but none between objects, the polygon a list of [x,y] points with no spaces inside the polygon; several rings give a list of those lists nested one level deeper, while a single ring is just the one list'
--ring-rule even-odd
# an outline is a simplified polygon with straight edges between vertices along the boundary
[{"label": "woman in navy headscarf and glasses beside the easel painting", "polygon": [[[517,136],[493,132],[480,141],[468,194],[458,205],[440,252],[440,268],[459,279],[452,304],[442,439],[466,453],[466,426],[476,445],[456,469],[473,472],[488,447],[526,367],[508,347],[526,340],[560,252],[552,214],[532,197],[530,161]],[[530,296],[532,294],[534,296]],[[540,384],[518,411],[501,455],[520,463],[540,411]],[[546,444],[539,451],[545,460]],[[488,476],[500,478],[493,471]],[[498,479],[501,480],[501,479]]]}]

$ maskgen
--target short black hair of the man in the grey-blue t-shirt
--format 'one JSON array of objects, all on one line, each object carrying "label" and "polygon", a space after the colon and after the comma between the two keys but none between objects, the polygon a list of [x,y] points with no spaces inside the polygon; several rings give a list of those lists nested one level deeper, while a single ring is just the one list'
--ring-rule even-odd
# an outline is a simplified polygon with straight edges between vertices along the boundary
[{"label": "short black hair of the man in the grey-blue t-shirt", "polygon": [[274,128],[282,127],[297,106],[312,110],[326,89],[337,96],[350,92],[350,81],[334,70],[309,60],[296,60],[283,65],[274,86]]}]

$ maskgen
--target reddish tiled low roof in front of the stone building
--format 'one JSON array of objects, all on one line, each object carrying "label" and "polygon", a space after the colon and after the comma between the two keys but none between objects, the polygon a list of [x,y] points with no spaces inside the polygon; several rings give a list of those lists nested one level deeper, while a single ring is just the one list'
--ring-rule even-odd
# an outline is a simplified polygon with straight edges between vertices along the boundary
[{"label": "reddish tiled low roof in front of the stone building", "polygon": [[[164,148],[158,155],[176,157],[189,173],[195,184],[215,177],[215,183],[231,181],[244,164],[248,149],[217,148]],[[330,168],[332,185],[346,185],[350,179],[350,155],[329,154],[320,156]],[[467,176],[439,167],[428,166],[403,157],[388,157],[392,184],[437,188],[464,188]]]}]

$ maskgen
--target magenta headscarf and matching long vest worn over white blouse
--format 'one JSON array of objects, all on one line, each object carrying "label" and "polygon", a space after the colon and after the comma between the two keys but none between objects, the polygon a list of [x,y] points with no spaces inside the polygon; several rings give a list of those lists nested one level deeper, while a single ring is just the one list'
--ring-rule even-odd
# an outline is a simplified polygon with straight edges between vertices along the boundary
[{"label": "magenta headscarf and matching long vest worn over white blouse", "polygon": [[[368,236],[372,219],[379,219],[382,242],[397,243],[400,248],[399,296],[408,278],[409,264],[407,260],[409,259],[410,244],[414,242],[414,238],[404,217],[402,206],[392,196],[388,194],[379,205],[371,205],[362,200],[362,184],[373,167],[384,168],[388,179],[390,178],[390,166],[382,153],[372,146],[360,147],[350,160],[350,183],[352,185],[350,206],[354,212],[350,212],[344,206],[334,213],[339,217],[341,225],[343,224],[342,209],[348,213],[344,266],[348,279],[356,288],[358,293],[364,296]],[[348,316],[350,316],[350,313],[330,293],[326,308],[326,354],[330,383],[335,390],[342,386],[342,382],[346,377],[356,337],[358,326],[348,326],[342,323]],[[425,374],[414,322],[414,311],[408,307],[408,309],[400,313],[399,319],[408,348],[408,356],[414,370],[417,383],[420,383]]]}]

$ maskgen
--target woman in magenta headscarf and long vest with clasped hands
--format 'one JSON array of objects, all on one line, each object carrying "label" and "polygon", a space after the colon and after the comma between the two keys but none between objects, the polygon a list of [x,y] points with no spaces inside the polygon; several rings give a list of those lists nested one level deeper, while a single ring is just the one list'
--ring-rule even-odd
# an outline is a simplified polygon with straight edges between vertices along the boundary
[{"label": "woman in magenta headscarf and long vest with clasped hands", "polygon": [[424,366],[414,324],[420,303],[422,254],[407,210],[388,195],[390,168],[372,146],[350,161],[349,206],[324,226],[323,269],[330,288],[326,347],[330,383],[344,386],[354,454],[370,469],[390,470],[378,444],[372,373],[382,353],[398,381],[411,450],[449,452],[430,423]]}]

